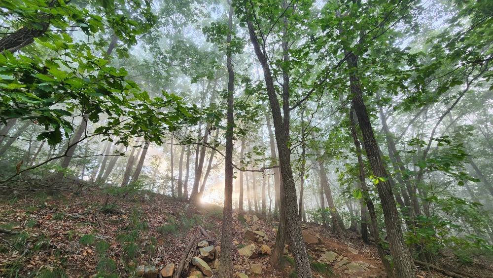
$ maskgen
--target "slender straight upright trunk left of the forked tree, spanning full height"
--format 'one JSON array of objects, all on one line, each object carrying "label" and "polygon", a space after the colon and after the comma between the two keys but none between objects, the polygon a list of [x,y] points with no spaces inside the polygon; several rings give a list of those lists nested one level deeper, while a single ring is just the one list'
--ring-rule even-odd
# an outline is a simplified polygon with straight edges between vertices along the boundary
[{"label": "slender straight upright trunk left of the forked tree, spanning full height", "polygon": [[233,6],[228,0],[229,4],[229,18],[228,18],[228,32],[226,44],[228,45],[227,53],[227,68],[228,68],[228,109],[226,112],[227,126],[226,126],[226,153],[225,153],[225,167],[224,167],[224,208],[223,208],[223,220],[222,220],[222,234],[221,234],[221,256],[219,257],[219,278],[231,278],[233,276],[233,262],[231,255],[233,251],[233,91],[234,91],[234,79],[235,73],[233,71],[233,62],[231,57],[231,30],[233,20]]}]

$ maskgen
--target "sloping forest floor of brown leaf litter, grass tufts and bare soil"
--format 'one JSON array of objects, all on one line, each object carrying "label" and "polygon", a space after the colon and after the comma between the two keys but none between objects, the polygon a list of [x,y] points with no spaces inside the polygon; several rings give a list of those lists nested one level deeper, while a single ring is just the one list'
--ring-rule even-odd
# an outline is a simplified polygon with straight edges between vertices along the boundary
[{"label": "sloping forest floor of brown leaf litter, grass tufts and bare soil", "polygon": [[[219,206],[203,205],[193,219],[186,219],[183,216],[186,204],[165,196],[110,198],[108,209],[103,212],[105,199],[106,195],[96,192],[80,196],[41,192],[1,197],[0,277],[96,277],[98,272],[106,273],[105,277],[136,277],[140,266],[157,269],[169,264],[177,266],[190,239],[205,238],[201,227],[210,237],[205,239],[220,246],[222,208]],[[281,270],[270,266],[268,255],[252,259],[240,256],[238,249],[252,244],[245,238],[247,228],[254,227],[269,238],[267,242],[254,243],[256,247],[274,246],[278,223],[256,218],[247,215],[246,223],[234,219],[234,272],[253,277],[252,266],[260,265],[261,273],[257,277],[293,277],[290,253],[284,256]],[[364,244],[356,234],[341,240],[321,226],[304,224],[302,228],[306,241],[313,242],[306,243],[306,247],[314,262],[320,262],[324,254],[334,257],[327,265],[333,274],[314,270],[315,278],[386,277],[376,248]],[[9,231],[12,233],[7,234]],[[454,260],[445,257],[441,263],[453,270],[458,266]],[[351,272],[349,265],[363,270]],[[193,270],[192,267],[190,271]],[[470,277],[493,276],[492,263],[481,260],[461,266],[460,270]],[[444,276],[418,271],[418,277]]]}]

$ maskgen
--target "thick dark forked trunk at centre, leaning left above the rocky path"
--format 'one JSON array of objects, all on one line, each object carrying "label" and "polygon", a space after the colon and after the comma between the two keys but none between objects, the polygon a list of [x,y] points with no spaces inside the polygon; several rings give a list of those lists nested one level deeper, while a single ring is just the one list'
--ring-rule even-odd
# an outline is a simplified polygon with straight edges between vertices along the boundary
[{"label": "thick dark forked trunk at centre, leaning left above the rocky path", "polygon": [[[288,146],[289,128],[286,129],[286,126],[289,127],[289,90],[286,91],[283,89],[283,111],[284,111],[284,119],[283,119],[279,100],[277,98],[276,88],[274,87],[274,81],[271,76],[271,70],[269,68],[267,58],[265,57],[265,54],[262,52],[260,48],[260,43],[257,40],[252,22],[248,20],[247,25],[248,25],[250,40],[255,50],[255,54],[260,64],[262,65],[262,69],[264,72],[264,80],[267,88],[267,94],[269,97],[269,103],[271,106],[272,119],[274,121],[276,141],[278,145],[279,161],[280,161],[281,175],[282,175],[282,190],[283,190],[281,194],[283,193],[282,195],[284,196],[284,202],[285,202],[285,203],[281,203],[281,211],[285,214],[285,220],[281,219],[280,224],[281,223],[287,224],[285,226],[287,227],[287,234],[289,235],[290,238],[289,247],[294,255],[294,261],[296,263],[296,268],[298,270],[298,277],[311,278],[312,271],[310,269],[310,261],[308,259],[305,244],[303,243],[303,238],[301,235],[301,223],[298,217],[299,212],[298,212],[297,198],[296,198],[296,186],[294,184],[293,172],[291,169],[290,150]],[[287,41],[284,41],[283,44],[284,43],[287,45]],[[283,86],[287,87],[286,82],[283,83]],[[286,234],[286,231],[284,229],[285,228],[283,227],[283,225],[280,225],[277,233],[274,249],[276,249],[276,245],[279,246],[280,244],[282,245],[284,244],[284,242],[279,241],[279,239],[283,237],[283,234]],[[272,256],[270,262],[272,263]]]}]

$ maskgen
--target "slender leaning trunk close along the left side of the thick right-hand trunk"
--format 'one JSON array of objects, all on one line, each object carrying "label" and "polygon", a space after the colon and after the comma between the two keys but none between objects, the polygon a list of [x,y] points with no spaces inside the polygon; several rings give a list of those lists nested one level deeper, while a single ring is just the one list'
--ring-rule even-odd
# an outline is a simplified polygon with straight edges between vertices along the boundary
[{"label": "slender leaning trunk close along the left side of the thick right-hand trunk", "polygon": [[[366,202],[366,206],[368,208],[368,215],[370,216],[370,231],[373,234],[373,237],[375,238],[375,244],[377,245],[378,254],[380,256],[380,259],[382,260],[387,275],[390,274],[390,277],[393,277],[393,269],[392,266],[390,265],[390,262],[386,258],[386,253],[382,245],[382,239],[380,238],[377,213],[375,212],[375,205],[373,204],[372,199],[370,199],[370,193],[368,191],[368,187],[366,186],[366,177],[365,177],[365,168],[364,168],[362,150],[361,150],[361,145],[359,143],[358,132],[356,131],[356,118],[354,116],[355,116],[354,109],[351,107],[351,112],[350,112],[351,135],[352,135],[352,140],[354,142],[354,146],[356,147],[356,155],[358,157],[358,169],[359,169],[358,179],[359,179],[359,185],[361,185],[362,199],[364,199],[364,202]],[[366,220],[366,218],[364,220]],[[361,222],[363,223],[363,210],[361,210]],[[361,232],[363,233],[363,226],[361,227]],[[369,242],[369,239],[367,240]]]}]

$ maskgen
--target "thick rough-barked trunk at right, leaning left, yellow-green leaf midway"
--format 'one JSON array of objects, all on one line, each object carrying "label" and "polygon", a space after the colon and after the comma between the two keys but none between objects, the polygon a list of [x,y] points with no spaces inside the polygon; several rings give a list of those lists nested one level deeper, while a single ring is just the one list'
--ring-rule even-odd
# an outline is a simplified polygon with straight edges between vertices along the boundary
[{"label": "thick rough-barked trunk at right, leaning left, yellow-green leaf midway", "polygon": [[375,139],[370,117],[368,116],[368,112],[363,101],[359,77],[357,76],[357,71],[354,71],[357,69],[358,56],[350,52],[345,52],[345,57],[348,68],[352,70],[350,75],[351,93],[353,96],[352,104],[354,111],[356,112],[356,116],[358,117],[361,133],[363,134],[366,155],[370,161],[373,175],[381,179],[377,185],[377,189],[380,199],[382,200],[382,209],[387,228],[387,236],[390,244],[390,252],[392,254],[396,269],[396,275],[399,278],[414,277],[412,257],[404,243],[404,237],[400,227],[399,213],[397,212],[395,199],[392,193],[390,183],[391,177],[387,175],[387,169],[384,167],[384,163],[380,157],[377,140]]}]

